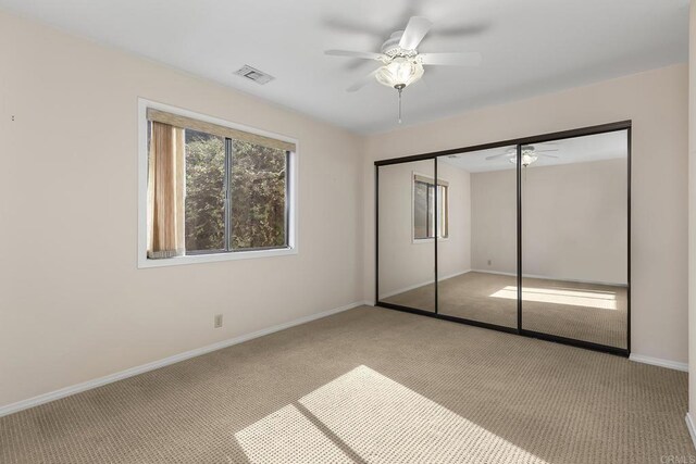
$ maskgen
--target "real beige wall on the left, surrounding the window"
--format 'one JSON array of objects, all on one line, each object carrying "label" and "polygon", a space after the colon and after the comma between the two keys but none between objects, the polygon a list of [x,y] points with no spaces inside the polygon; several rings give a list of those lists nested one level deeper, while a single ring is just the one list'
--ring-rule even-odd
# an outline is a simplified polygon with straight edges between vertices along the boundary
[{"label": "real beige wall on the left, surrounding the window", "polygon": [[[362,300],[356,136],[4,13],[0,58],[0,406]],[[138,97],[299,139],[299,254],[138,269]]]}]

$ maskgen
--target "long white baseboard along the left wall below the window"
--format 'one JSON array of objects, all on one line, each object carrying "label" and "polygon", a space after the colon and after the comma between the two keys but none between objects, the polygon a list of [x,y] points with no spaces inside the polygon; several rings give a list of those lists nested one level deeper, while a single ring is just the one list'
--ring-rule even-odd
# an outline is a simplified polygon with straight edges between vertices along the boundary
[{"label": "long white baseboard along the left wall below the window", "polygon": [[70,397],[71,394],[79,393],[82,391],[91,390],[92,388],[101,387],[102,385],[111,384],[117,380],[122,380],[124,378],[133,377],[138,374],[146,373],[148,371],[154,371],[160,367],[167,366],[170,364],[178,363],[181,361],[188,360],[190,358],[200,356],[201,354],[210,353],[212,351],[221,350],[223,348],[232,347],[233,344],[243,343],[248,340],[252,340],[254,338],[263,337],[264,335],[273,334],[275,331],[279,331],[286,328],[290,328],[300,324],[306,324],[311,321],[320,319],[322,317],[331,316],[333,314],[340,313],[343,311],[348,311],[357,306],[361,306],[363,304],[368,304],[366,301],[359,301],[356,303],[346,304],[345,306],[334,308],[333,310],[324,311],[316,314],[310,314],[308,316],[299,317],[294,321],[289,321],[287,323],[278,324],[272,327],[268,327],[261,330],[257,330],[251,334],[240,335],[238,337],[234,337],[227,340],[219,341],[213,344],[209,344],[207,347],[197,348],[195,350],[186,351],[179,354],[174,354],[173,356],[164,358],[163,360],[153,361],[151,363],[142,364],[139,366],[130,367],[125,371],[121,371],[114,374],[107,375],[104,377],[99,377],[92,380],[88,380],[82,384],[72,385],[70,387],[61,388],[59,390],[50,391],[48,393],[39,394],[34,398],[29,398],[26,400],[17,401],[16,403],[7,404],[0,406],[0,417],[5,416],[8,414],[13,414],[22,410],[26,410],[29,407],[38,406],[39,404],[49,403],[54,400],[59,400],[61,398]]}]

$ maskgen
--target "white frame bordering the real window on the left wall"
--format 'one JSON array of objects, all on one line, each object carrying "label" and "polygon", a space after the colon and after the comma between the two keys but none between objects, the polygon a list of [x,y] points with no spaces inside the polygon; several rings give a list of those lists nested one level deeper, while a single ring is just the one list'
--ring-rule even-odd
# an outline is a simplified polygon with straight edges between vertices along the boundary
[{"label": "white frame bordering the real window on the left wall", "polygon": [[[271,250],[248,250],[248,251],[235,251],[226,253],[211,253],[211,254],[187,254],[183,256],[174,256],[166,259],[152,260],[148,259],[148,217],[147,217],[147,200],[148,200],[148,108],[165,111],[167,113],[191,117],[195,120],[203,121],[206,123],[216,124],[224,127],[229,127],[237,130],[244,130],[250,134],[257,134],[263,137],[274,138],[276,140],[287,141],[295,143],[295,151],[290,152],[288,166],[289,175],[289,188],[288,188],[288,224],[287,224],[287,248],[271,249]],[[299,253],[299,240],[298,240],[298,173],[299,173],[299,140],[284,136],[281,134],[274,134],[266,130],[257,129],[253,127],[245,126],[243,124],[232,123],[229,121],[221,120],[206,114],[196,113],[189,110],[172,106],[164,103],[147,100],[145,98],[138,98],[138,268],[148,267],[165,267],[176,266],[183,264],[197,264],[197,263],[214,263],[220,261],[237,261],[249,260],[257,258],[271,258],[271,256],[286,256]]]}]

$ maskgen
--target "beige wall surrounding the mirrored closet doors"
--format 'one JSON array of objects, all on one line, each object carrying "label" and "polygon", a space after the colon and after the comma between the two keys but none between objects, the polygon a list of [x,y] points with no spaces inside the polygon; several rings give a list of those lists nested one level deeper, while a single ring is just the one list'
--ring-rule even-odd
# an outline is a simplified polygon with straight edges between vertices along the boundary
[{"label": "beige wall surrounding the mirrored closet doors", "polygon": [[[406,115],[408,118],[408,114]],[[365,141],[365,298],[372,299],[372,162],[633,120],[632,351],[687,360],[687,66],[674,65],[375,135]]]}]

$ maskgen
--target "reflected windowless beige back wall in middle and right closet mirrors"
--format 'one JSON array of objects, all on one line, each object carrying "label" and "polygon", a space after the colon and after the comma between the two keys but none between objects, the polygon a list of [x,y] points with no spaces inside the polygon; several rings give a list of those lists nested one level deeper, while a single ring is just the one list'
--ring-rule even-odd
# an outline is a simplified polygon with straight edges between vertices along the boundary
[{"label": "reflected windowless beige back wall in middle and right closet mirrors", "polygon": [[[627,283],[626,164],[617,159],[523,171],[525,275]],[[472,174],[471,188],[472,267],[517,273],[515,172]]]}]

